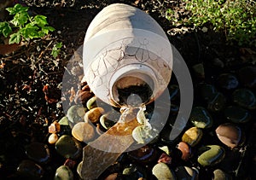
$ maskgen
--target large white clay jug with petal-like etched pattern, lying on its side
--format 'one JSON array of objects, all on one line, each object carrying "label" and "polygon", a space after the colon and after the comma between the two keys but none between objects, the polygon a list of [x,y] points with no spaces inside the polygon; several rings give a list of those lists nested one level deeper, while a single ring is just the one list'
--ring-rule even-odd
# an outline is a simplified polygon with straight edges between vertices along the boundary
[{"label": "large white clay jug with petal-like etched pattern, lying on its side", "polygon": [[138,95],[139,102],[147,104],[169,84],[172,46],[151,16],[115,3],[91,21],[83,63],[84,78],[103,102],[121,107],[131,105],[129,98]]}]

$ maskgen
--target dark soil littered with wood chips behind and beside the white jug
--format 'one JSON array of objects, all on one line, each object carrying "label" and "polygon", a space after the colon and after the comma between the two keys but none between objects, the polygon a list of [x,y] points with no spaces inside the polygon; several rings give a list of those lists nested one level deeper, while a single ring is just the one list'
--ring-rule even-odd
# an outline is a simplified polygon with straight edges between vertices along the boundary
[{"label": "dark soil littered with wood chips behind and beside the white jug", "polygon": [[[0,161],[0,172],[4,171],[3,174],[9,179],[26,155],[16,153],[20,144],[47,142],[48,126],[65,115],[62,104],[74,103],[69,99],[73,95],[71,89],[61,92],[67,63],[83,44],[90,21],[103,7],[116,2],[131,4],[152,15],[169,33],[171,43],[183,55],[191,72],[196,64],[202,63],[206,67],[206,82],[214,84],[219,72],[236,72],[241,66],[253,65],[256,61],[253,47],[227,44],[224,34],[213,32],[210,26],[207,26],[207,32],[172,26],[164,17],[165,11],[168,8],[176,9],[179,18],[185,18],[180,1],[24,0],[21,3],[30,7],[32,15],[47,16],[55,32],[30,41],[14,53],[0,55],[0,144],[5,144],[1,152],[9,151],[9,156],[14,156],[8,156],[10,161],[4,168]],[[50,55],[51,49],[60,42],[63,44],[61,52],[54,58]],[[72,61],[71,66],[74,72],[83,73],[78,61]],[[78,79],[70,79],[70,84],[74,82],[79,86]],[[9,138],[9,143],[3,137]],[[22,149],[20,151],[23,152]]]}]

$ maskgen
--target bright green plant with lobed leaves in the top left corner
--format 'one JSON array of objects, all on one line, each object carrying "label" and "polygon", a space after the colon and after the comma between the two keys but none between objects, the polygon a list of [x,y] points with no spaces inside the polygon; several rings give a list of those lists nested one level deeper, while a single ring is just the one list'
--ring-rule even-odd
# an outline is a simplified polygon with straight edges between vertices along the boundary
[{"label": "bright green plant with lobed leaves in the top left corner", "polygon": [[55,28],[48,26],[44,15],[31,16],[28,14],[28,7],[20,3],[13,8],[7,8],[9,15],[14,15],[13,20],[0,22],[0,35],[9,37],[9,44],[19,44],[20,41],[32,38],[42,38]]}]

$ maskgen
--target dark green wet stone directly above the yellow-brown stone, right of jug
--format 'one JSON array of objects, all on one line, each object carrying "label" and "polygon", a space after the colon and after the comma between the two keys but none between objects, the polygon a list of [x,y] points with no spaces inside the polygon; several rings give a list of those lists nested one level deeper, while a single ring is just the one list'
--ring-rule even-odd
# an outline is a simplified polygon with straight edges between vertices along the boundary
[{"label": "dark green wet stone directly above the yellow-brown stone, right of jug", "polygon": [[190,113],[190,122],[198,128],[212,127],[212,116],[205,107],[194,107]]}]

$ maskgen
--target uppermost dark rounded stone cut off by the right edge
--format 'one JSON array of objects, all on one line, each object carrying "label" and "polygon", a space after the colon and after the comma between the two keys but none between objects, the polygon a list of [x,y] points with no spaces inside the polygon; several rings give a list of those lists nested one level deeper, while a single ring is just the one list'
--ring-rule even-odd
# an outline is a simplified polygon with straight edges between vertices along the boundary
[{"label": "uppermost dark rounded stone cut off by the right edge", "polygon": [[256,88],[256,67],[243,67],[238,73],[241,83],[248,88]]}]

